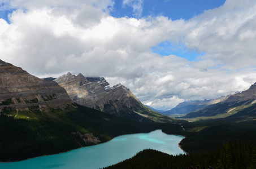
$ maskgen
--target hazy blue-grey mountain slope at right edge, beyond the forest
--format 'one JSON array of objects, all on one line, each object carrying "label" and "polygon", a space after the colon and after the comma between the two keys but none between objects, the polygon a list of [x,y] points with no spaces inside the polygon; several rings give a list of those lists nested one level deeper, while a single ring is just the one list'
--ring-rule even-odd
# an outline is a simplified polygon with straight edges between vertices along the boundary
[{"label": "hazy blue-grey mountain slope at right edge, beyond the forest", "polygon": [[204,108],[177,118],[248,121],[256,118],[256,83],[248,90],[211,100]]}]

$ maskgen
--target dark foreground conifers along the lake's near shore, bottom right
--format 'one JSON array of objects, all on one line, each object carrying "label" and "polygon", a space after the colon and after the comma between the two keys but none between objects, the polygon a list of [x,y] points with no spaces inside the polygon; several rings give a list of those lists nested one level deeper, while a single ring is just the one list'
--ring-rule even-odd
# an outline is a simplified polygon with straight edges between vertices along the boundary
[{"label": "dark foreground conifers along the lake's near shore, bottom right", "polygon": [[157,150],[146,149],[134,157],[106,168],[172,168],[183,169],[189,166],[215,169],[243,168],[254,169],[256,148],[246,142],[224,143],[222,148],[212,153],[192,153],[169,155]]}]

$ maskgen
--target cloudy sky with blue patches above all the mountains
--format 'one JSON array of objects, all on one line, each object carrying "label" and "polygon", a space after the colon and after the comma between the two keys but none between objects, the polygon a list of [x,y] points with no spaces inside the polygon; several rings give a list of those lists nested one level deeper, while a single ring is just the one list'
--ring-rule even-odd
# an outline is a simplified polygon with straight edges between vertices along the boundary
[{"label": "cloudy sky with blue patches above all the mountains", "polygon": [[170,110],[256,82],[255,0],[0,0],[0,59],[82,73]]}]

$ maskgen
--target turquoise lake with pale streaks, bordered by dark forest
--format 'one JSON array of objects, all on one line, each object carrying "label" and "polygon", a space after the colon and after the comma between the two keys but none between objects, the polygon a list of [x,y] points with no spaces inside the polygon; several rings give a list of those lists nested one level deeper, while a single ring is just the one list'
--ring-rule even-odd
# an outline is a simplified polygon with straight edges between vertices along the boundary
[{"label": "turquoise lake with pale streaks, bordered by dark forest", "polygon": [[131,158],[143,149],[155,149],[168,154],[184,153],[179,148],[183,136],[167,135],[161,130],[148,134],[115,137],[107,143],[47,155],[20,162],[0,163],[0,168],[99,168]]}]

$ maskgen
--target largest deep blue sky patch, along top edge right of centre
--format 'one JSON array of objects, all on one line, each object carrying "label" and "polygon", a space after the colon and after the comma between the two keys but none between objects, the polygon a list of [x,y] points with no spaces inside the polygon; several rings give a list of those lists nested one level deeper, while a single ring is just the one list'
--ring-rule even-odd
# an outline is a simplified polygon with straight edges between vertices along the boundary
[{"label": "largest deep blue sky patch, along top edge right of centre", "polygon": [[[140,2],[132,0],[131,2]],[[202,14],[204,10],[217,8],[224,4],[224,0],[145,0],[142,1],[142,15],[158,16],[163,15],[172,20],[185,19],[188,20],[193,16]],[[137,17],[133,13],[133,8],[128,5],[123,5],[123,1],[115,1],[115,10],[111,12],[115,17]]]}]

